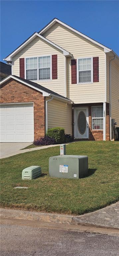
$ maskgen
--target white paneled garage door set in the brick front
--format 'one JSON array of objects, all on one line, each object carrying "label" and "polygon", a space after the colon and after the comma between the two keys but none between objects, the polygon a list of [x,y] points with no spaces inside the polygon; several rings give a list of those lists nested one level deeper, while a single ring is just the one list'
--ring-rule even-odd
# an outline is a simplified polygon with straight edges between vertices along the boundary
[{"label": "white paneled garage door set in the brick front", "polygon": [[29,104],[0,106],[0,142],[34,140],[34,107]]}]

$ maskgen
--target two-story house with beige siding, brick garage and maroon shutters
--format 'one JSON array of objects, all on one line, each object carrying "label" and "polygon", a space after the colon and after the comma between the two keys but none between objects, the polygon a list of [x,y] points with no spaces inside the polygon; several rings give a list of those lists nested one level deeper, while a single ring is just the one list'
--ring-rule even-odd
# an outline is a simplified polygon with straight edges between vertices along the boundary
[{"label": "two-story house with beige siding, brick garage and maroon shutters", "polygon": [[74,139],[111,140],[119,126],[119,57],[54,18],[4,59],[1,141],[32,142],[48,128]]}]

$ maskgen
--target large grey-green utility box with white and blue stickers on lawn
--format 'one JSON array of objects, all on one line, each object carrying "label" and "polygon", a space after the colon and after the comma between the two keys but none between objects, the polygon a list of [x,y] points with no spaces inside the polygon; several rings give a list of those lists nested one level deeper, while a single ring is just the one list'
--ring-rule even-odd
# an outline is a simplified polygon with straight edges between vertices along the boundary
[{"label": "large grey-green utility box with white and blue stickers on lawn", "polygon": [[88,157],[63,155],[49,158],[49,176],[79,179],[88,175]]}]

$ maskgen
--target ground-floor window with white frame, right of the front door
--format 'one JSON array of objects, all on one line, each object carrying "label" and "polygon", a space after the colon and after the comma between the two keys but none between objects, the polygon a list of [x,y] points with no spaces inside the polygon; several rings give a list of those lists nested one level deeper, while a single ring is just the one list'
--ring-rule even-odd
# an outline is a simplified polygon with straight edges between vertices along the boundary
[{"label": "ground-floor window with white frame, right of the front door", "polygon": [[103,106],[92,107],[92,130],[103,129]]}]

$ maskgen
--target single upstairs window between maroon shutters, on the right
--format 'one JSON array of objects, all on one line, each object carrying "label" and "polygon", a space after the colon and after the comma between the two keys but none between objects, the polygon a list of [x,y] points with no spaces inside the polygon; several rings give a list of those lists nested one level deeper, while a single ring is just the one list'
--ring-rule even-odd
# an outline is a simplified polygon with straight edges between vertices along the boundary
[{"label": "single upstairs window between maroon shutters, on the right", "polygon": [[92,82],[92,58],[78,59],[78,83]]}]

